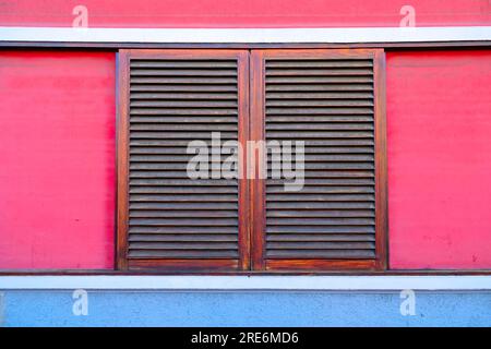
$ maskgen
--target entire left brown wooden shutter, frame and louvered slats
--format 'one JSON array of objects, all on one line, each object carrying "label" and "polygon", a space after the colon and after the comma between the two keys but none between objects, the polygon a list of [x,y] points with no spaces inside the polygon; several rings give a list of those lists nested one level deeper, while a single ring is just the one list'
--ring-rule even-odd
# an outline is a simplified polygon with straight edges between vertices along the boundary
[{"label": "entire left brown wooden shutter, frame and louvered slats", "polygon": [[187,174],[189,142],[248,137],[248,55],[120,51],[119,268],[249,267],[247,181]]}]

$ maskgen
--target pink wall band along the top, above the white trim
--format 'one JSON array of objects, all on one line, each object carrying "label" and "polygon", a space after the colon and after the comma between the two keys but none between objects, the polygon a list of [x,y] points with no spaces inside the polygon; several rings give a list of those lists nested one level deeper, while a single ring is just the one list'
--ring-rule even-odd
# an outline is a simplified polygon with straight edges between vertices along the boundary
[{"label": "pink wall band along the top, above the white trim", "polygon": [[418,26],[491,24],[488,0],[4,0],[0,25],[71,26],[79,4],[91,27],[398,26],[405,4]]}]

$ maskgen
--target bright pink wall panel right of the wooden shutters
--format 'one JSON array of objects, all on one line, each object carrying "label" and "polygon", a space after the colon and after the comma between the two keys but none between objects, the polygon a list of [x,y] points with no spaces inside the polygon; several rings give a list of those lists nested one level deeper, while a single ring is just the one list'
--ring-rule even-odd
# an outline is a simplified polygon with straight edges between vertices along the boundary
[{"label": "bright pink wall panel right of the wooden shutters", "polygon": [[491,267],[491,51],[387,55],[390,264]]}]

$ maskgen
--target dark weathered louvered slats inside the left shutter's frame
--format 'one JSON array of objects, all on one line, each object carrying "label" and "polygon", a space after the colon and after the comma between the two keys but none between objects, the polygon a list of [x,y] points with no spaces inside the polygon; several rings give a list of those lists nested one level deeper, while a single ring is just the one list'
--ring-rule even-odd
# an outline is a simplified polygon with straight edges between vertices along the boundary
[{"label": "dark weathered louvered slats inside the left shutter's frame", "polygon": [[128,258],[238,260],[238,179],[187,173],[190,141],[238,141],[238,59],[131,58],[129,83]]}]

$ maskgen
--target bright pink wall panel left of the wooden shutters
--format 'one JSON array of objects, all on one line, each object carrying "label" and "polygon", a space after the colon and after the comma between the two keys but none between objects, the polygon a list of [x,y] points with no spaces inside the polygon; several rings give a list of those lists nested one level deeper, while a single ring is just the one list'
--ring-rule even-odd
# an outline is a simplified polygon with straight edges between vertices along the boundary
[{"label": "bright pink wall panel left of the wooden shutters", "polygon": [[0,268],[111,268],[115,55],[0,52]]}]

